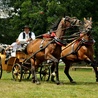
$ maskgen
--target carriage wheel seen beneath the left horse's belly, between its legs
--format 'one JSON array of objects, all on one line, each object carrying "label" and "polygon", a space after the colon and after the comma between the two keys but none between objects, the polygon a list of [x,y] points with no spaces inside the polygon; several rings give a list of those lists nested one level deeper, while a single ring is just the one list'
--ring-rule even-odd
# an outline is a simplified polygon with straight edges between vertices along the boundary
[{"label": "carriage wheel seen beneath the left horse's belly, between its legs", "polygon": [[50,79],[50,66],[41,66],[40,79],[45,81]]}]

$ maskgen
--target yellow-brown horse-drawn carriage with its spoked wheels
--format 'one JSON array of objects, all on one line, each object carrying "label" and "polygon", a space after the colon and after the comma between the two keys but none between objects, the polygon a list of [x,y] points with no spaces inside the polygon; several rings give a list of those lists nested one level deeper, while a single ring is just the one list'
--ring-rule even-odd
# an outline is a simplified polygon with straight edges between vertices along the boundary
[{"label": "yellow-brown horse-drawn carriage with its spoked wheels", "polygon": [[[47,64],[46,62],[40,64],[40,68],[37,72],[40,76],[40,80],[49,80],[49,65],[51,64]],[[23,51],[16,51],[16,56],[10,57],[8,61],[6,61],[6,53],[0,53],[0,79],[2,78],[3,71],[12,72],[12,77],[15,81],[20,82],[22,79],[29,79],[31,75],[30,57]]]}]

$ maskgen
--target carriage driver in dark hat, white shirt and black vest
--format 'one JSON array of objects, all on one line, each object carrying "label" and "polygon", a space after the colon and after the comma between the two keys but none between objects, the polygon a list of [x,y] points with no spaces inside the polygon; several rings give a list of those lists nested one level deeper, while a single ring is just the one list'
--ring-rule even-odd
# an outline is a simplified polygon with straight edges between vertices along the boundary
[{"label": "carriage driver in dark hat, white shirt and black vest", "polygon": [[28,44],[31,40],[35,39],[35,34],[34,32],[31,32],[30,29],[31,28],[28,25],[25,25],[23,27],[23,32],[19,34],[16,42],[12,43],[5,49],[7,51],[8,49],[12,48],[11,56],[16,56],[17,49],[21,49],[24,44]]}]

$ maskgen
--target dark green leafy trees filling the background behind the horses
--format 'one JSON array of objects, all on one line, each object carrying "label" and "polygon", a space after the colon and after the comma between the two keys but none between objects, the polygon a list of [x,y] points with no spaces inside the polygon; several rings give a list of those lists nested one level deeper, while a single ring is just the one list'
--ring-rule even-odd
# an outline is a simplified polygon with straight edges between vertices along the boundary
[{"label": "dark green leafy trees filling the background behind the horses", "polygon": [[[24,25],[29,25],[36,35],[46,33],[51,25],[64,15],[75,16],[80,20],[92,17],[95,50],[98,54],[98,0],[1,0],[9,12],[9,18],[0,19],[1,42],[12,43],[22,31]],[[2,7],[2,9],[4,9]],[[7,36],[7,37],[6,37]],[[9,40],[9,39],[12,40]]]}]

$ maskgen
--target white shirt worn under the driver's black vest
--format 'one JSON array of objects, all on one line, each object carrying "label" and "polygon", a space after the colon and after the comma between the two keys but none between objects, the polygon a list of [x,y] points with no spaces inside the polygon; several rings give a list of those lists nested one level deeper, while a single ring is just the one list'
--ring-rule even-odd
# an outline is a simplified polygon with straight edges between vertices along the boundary
[{"label": "white shirt worn under the driver's black vest", "polygon": [[[26,42],[30,37],[29,37],[29,33],[28,34],[26,34],[26,32],[24,31],[24,33],[25,33],[25,38],[23,39],[23,32],[21,32],[20,34],[19,34],[19,36],[18,36],[18,40],[20,41],[20,42]],[[35,39],[35,34],[34,34],[34,32],[31,32],[31,38],[34,40]]]}]

